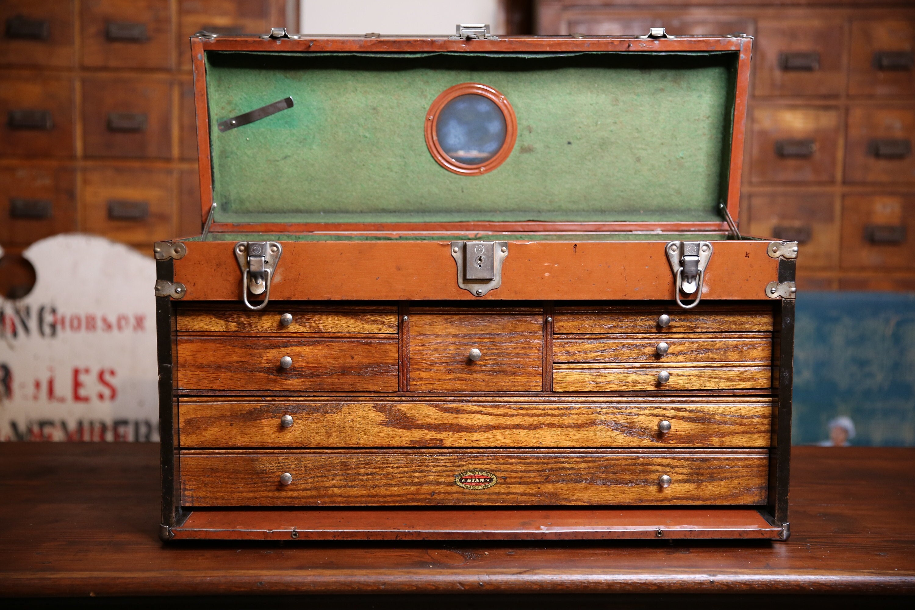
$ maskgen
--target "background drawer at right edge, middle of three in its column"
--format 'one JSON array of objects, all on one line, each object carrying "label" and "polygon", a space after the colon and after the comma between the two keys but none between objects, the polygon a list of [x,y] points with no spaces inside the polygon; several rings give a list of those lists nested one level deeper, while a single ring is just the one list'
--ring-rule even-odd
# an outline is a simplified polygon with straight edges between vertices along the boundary
[{"label": "background drawer at right edge, middle of three in its column", "polygon": [[845,182],[915,182],[915,110],[848,109]]}]

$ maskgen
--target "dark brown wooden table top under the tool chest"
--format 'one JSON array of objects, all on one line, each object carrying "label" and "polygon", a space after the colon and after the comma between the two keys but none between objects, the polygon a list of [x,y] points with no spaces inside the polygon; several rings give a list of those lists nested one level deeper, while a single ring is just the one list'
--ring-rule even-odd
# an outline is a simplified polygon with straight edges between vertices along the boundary
[{"label": "dark brown wooden table top under the tool chest", "polygon": [[0,595],[915,593],[915,448],[796,447],[791,539],[172,542],[158,445],[0,444]]}]

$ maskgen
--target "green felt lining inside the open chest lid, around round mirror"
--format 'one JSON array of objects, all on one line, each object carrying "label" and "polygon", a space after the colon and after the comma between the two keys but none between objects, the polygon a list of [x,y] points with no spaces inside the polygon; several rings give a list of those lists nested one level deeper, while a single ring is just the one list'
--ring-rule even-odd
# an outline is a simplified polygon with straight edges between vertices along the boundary
[{"label": "green felt lining inside the open chest lid, around round mirror", "polygon": [[[210,51],[220,222],[708,221],[726,192],[737,54]],[[425,112],[461,82],[518,117],[505,163],[438,166]],[[216,123],[292,96],[221,133]]]}]

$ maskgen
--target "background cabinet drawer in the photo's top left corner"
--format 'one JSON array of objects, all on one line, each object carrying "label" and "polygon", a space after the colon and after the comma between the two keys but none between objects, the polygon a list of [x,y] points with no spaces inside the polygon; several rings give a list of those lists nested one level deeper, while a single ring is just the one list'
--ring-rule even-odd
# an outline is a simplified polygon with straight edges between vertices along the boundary
[{"label": "background cabinet drawer in the photo's top left corner", "polygon": [[0,66],[73,65],[72,0],[4,0]]}]

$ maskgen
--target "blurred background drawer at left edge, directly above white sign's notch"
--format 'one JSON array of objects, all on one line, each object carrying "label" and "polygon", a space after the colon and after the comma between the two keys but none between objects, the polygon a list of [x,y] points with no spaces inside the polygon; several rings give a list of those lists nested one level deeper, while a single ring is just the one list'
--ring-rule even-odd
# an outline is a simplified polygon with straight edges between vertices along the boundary
[{"label": "blurred background drawer at left edge, directly above white sign's notch", "polygon": [[76,230],[75,194],[72,169],[0,169],[0,242],[27,246]]}]

